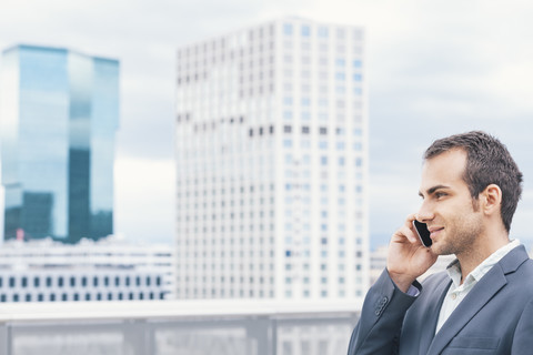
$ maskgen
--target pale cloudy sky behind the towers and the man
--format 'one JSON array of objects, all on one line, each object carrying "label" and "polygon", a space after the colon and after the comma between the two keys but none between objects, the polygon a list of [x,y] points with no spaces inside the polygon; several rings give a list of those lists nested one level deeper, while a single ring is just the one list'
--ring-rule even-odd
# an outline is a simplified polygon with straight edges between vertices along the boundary
[{"label": "pale cloudy sky behind the towers and the man", "polygon": [[0,49],[120,60],[114,229],[171,244],[177,49],[286,16],[365,29],[372,248],[418,210],[425,148],[470,130],[500,138],[524,173],[511,234],[532,244],[532,1],[0,0]]}]

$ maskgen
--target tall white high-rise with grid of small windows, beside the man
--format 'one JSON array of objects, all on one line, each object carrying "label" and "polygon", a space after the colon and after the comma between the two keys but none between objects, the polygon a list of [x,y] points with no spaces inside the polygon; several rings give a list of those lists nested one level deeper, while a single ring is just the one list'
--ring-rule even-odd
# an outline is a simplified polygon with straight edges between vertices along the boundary
[{"label": "tall white high-rise with grid of small windows, beside the man", "polygon": [[178,50],[178,298],[364,295],[363,37],[286,18]]}]

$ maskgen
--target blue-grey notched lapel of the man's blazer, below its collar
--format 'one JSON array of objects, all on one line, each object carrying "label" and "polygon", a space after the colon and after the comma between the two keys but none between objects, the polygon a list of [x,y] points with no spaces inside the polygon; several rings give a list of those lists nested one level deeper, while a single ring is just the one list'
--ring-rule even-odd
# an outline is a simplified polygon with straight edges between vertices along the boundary
[{"label": "blue-grey notched lapel of the man's blazer, below its collar", "polygon": [[[452,312],[436,333],[428,355],[440,354],[452,338],[480,312],[481,308],[507,283],[502,267],[497,264],[480,280],[459,306]],[[442,305],[442,302],[440,302]],[[439,315],[440,308],[436,310]],[[433,328],[434,331],[435,328]]]}]

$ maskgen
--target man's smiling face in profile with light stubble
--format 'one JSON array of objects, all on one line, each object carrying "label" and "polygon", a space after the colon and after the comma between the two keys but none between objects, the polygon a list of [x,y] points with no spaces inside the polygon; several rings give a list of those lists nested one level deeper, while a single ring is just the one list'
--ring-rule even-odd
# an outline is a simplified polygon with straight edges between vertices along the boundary
[{"label": "man's smiling face in profile with light stubble", "polygon": [[439,255],[469,253],[483,233],[482,213],[463,181],[466,152],[454,149],[426,160],[422,169],[418,220],[428,223]]}]

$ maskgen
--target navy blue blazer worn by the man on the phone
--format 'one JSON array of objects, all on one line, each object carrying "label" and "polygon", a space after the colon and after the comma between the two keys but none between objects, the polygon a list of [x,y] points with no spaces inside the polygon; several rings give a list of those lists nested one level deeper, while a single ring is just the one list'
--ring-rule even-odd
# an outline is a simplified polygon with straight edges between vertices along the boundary
[{"label": "navy blue blazer worn by the man on the phone", "polygon": [[513,248],[470,291],[435,334],[451,280],[429,276],[416,297],[396,288],[386,270],[370,288],[349,355],[533,354],[533,261]]}]

